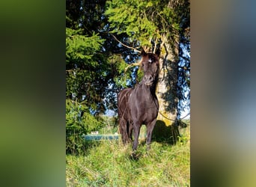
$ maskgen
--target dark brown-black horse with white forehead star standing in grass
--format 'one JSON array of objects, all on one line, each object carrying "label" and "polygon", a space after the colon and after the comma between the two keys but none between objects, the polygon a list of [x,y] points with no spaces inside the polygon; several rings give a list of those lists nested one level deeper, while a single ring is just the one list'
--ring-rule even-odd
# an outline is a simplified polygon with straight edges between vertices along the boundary
[{"label": "dark brown-black horse with white forehead star standing in grass", "polygon": [[156,54],[141,52],[141,69],[144,76],[135,88],[126,88],[118,93],[119,129],[122,141],[126,144],[134,141],[132,150],[138,146],[138,135],[141,125],[147,126],[147,150],[150,149],[151,136],[158,114],[156,83],[159,73],[159,50]]}]

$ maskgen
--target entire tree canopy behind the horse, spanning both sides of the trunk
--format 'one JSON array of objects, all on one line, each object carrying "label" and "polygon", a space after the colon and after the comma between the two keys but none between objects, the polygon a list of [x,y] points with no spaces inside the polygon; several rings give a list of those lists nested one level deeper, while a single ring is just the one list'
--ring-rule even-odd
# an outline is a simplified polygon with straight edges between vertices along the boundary
[{"label": "entire tree canopy behind the horse, spanning both sides of the trunk", "polygon": [[[189,24],[186,0],[67,0],[66,99],[69,106],[76,102],[73,107],[79,108],[73,114],[117,111],[118,91],[141,77],[138,67],[129,66],[138,61],[141,48],[153,52],[161,47],[162,58],[178,51],[175,91],[180,101],[189,100]],[[184,105],[180,102],[178,107],[182,111]],[[67,117],[69,124],[75,123]]]}]

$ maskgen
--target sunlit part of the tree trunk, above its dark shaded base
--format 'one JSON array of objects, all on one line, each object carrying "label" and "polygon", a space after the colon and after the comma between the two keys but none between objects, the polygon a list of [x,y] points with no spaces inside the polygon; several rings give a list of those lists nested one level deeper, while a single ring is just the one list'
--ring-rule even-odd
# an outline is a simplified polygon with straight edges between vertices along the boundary
[{"label": "sunlit part of the tree trunk, above its dark shaded base", "polygon": [[[178,46],[171,46],[162,38],[162,58],[159,61],[159,82],[156,87],[156,96],[159,100],[159,114],[157,120],[165,123],[165,126],[171,126],[177,117],[177,63],[178,63]],[[171,119],[171,120],[170,120]]]}]

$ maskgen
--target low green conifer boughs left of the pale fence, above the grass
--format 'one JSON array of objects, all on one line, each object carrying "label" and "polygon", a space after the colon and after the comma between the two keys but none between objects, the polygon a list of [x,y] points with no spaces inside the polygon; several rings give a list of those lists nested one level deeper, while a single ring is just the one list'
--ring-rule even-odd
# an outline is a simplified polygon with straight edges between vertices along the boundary
[{"label": "low green conifer boughs left of the pale fence, above the grass", "polygon": [[83,136],[103,126],[103,120],[88,113],[86,105],[66,99],[66,153],[85,153]]}]

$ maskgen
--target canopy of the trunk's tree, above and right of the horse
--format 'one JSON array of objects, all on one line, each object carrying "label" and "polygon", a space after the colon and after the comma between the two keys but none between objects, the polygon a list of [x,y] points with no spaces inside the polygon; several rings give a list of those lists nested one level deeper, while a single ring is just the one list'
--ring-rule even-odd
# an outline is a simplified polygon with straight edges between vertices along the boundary
[{"label": "canopy of the trunk's tree, above and right of the horse", "polygon": [[165,100],[176,100],[177,96],[180,102],[168,102],[168,105],[171,105],[170,111],[178,107],[180,115],[190,105],[189,1],[113,0],[106,1],[106,5],[105,15],[109,17],[110,32],[126,34],[128,46],[136,49],[141,46],[148,52],[155,52],[161,47],[162,58],[165,58],[163,64],[171,67],[171,70],[166,69],[169,71],[169,83],[164,84],[174,88],[168,91],[170,95],[165,94]]}]

